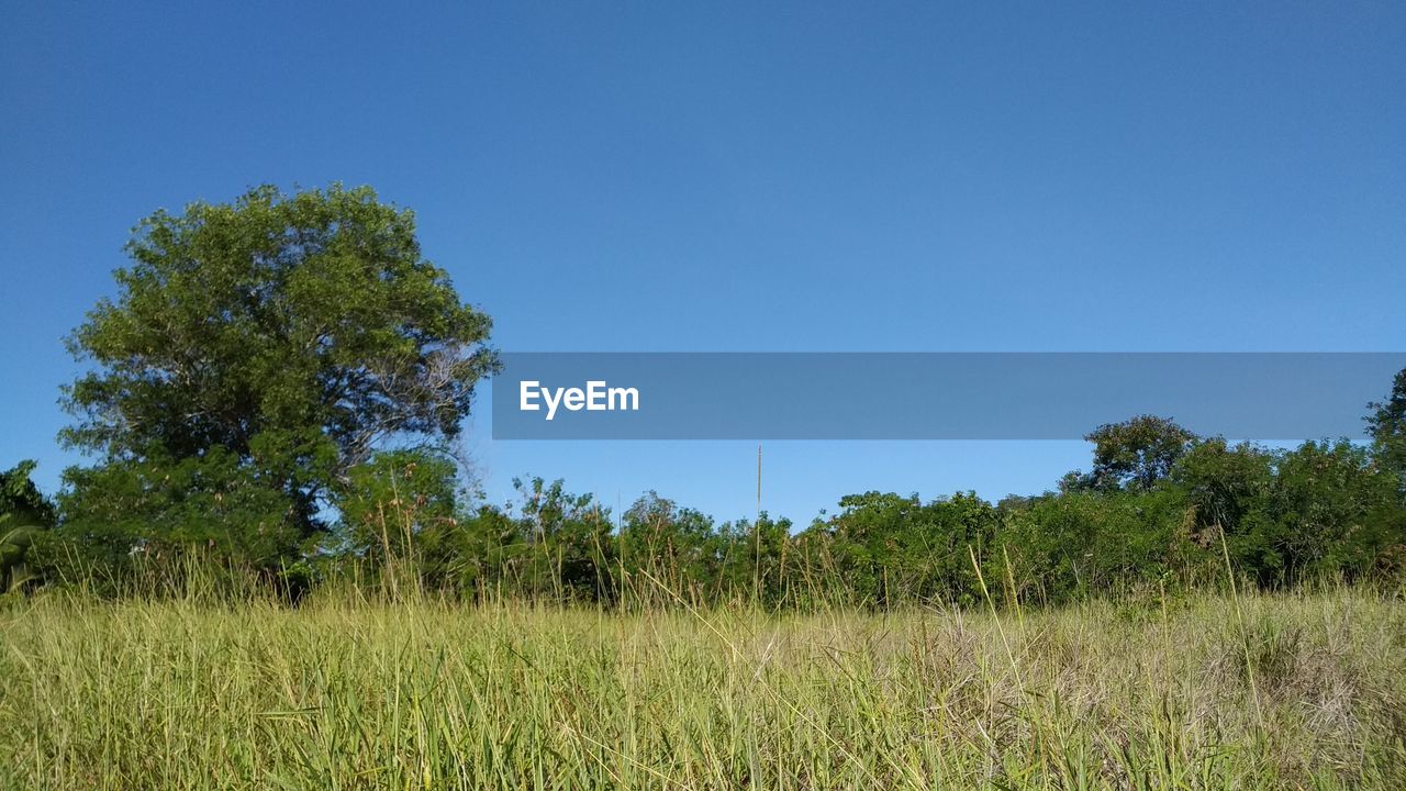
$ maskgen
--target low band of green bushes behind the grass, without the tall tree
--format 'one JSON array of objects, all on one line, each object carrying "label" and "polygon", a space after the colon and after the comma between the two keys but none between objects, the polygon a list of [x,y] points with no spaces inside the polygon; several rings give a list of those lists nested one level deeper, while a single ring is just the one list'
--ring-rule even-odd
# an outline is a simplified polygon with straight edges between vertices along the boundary
[{"label": "low band of green bushes behind the grass, without the tall tree", "polygon": [[[32,533],[25,580],[110,594],[124,580],[176,574],[191,559],[262,570],[291,595],[354,580],[458,600],[513,597],[619,604],[752,601],[845,604],[1052,604],[1126,588],[1225,580],[1229,567],[1265,588],[1313,580],[1399,583],[1406,573],[1406,497],[1399,464],[1406,372],[1372,414],[1371,443],[1308,442],[1292,450],[1202,439],[1139,417],[1088,439],[1094,463],[1059,490],[988,502],[870,491],[804,529],[762,515],[718,522],[647,493],[620,514],[562,481],[516,481],[515,502],[468,507],[453,459],[427,450],[380,456],[357,470],[337,521],[302,548],[238,488],[204,493],[152,521],[104,495],[103,514],[72,511]],[[32,487],[7,476],[4,491]],[[72,514],[72,515],[69,515]],[[271,552],[271,553],[270,553]],[[179,574],[176,574],[179,576]]]}]

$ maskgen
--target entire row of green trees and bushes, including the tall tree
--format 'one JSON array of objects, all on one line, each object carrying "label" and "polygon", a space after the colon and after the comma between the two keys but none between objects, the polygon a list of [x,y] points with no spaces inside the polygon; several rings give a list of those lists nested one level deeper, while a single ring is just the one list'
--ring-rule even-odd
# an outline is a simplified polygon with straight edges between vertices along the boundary
[{"label": "entire row of green trees and bushes, including the tall tree", "polygon": [[498,370],[492,322],[367,187],[157,211],[117,296],[69,336],[60,442],[90,463],[55,502],[0,479],[4,590],[122,595],[191,564],[297,600],[318,584],[620,604],[1021,600],[1119,586],[1395,578],[1406,566],[1406,372],[1365,443],[1281,452],[1139,417],[1088,472],[987,502],[877,491],[803,529],[717,522],[657,494],[620,514],[561,481],[461,491],[457,435]]}]

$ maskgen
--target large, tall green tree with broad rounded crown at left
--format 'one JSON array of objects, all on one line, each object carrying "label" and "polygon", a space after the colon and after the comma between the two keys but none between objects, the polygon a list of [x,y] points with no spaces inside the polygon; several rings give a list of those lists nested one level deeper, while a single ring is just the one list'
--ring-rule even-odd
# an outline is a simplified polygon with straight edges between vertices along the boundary
[{"label": "large, tall green tree with broad rounded crown at left", "polygon": [[[69,472],[63,507],[87,531],[121,517],[287,555],[378,449],[458,434],[496,366],[489,318],[368,187],[162,210],[127,253],[69,338],[91,370],[62,439],[97,464]],[[231,502],[249,512],[201,518]]]}]

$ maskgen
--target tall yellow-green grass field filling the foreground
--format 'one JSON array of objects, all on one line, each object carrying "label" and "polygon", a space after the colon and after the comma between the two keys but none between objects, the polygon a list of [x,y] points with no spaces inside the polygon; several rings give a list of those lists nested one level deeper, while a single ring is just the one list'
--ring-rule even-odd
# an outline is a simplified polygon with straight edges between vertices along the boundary
[{"label": "tall yellow-green grass field filling the foreground", "polygon": [[1406,607],[0,609],[7,788],[1406,788]]}]

